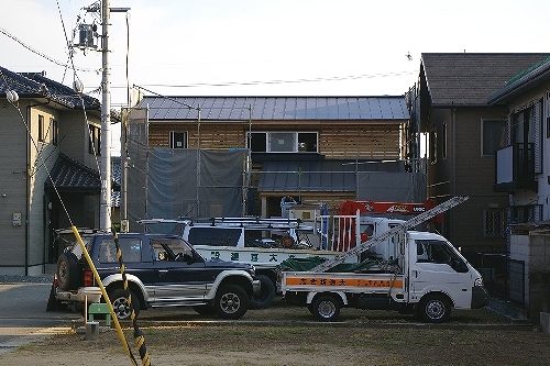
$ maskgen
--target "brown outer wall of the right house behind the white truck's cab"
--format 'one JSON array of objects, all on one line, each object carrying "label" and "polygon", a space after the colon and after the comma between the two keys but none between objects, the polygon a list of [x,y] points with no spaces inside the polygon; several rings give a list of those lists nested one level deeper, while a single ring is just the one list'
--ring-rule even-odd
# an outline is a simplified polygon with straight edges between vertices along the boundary
[{"label": "brown outer wall of the right house behind the white truck's cab", "polygon": [[495,157],[482,156],[483,119],[505,120],[506,112],[499,108],[431,110],[428,131],[440,132],[447,124],[447,158],[438,147],[437,162],[428,163],[428,197],[441,202],[469,196],[468,202],[446,213],[442,233],[466,249],[503,251],[504,237],[484,237],[484,210],[506,208],[507,196],[493,191]]}]

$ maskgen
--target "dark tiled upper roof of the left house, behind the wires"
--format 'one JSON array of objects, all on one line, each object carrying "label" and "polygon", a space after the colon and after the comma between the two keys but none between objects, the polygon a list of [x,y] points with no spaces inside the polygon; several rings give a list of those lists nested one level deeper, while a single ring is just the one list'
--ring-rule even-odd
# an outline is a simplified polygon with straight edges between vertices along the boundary
[{"label": "dark tiled upper roof of the left house, behind the wires", "polygon": [[[20,98],[48,98],[64,107],[81,109],[78,93],[42,73],[13,73],[0,66],[0,97],[6,97],[8,90],[16,91]],[[96,98],[82,95],[82,100],[87,109],[100,109]]]}]

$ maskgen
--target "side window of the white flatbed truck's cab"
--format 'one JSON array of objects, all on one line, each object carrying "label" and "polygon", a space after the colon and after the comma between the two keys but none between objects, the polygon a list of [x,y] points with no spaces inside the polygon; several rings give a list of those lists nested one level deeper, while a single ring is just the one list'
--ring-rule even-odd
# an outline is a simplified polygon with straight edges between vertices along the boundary
[{"label": "side window of the white flatbed truck's cab", "polygon": [[447,242],[437,240],[416,241],[417,263],[447,264],[455,271],[466,273],[468,266]]}]

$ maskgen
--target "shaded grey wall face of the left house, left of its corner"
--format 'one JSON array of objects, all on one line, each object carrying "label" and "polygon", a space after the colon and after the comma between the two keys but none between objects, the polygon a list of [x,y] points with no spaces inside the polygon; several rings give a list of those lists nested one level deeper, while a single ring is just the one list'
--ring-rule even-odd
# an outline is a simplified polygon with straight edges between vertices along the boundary
[{"label": "shaded grey wall face of the left house, left of its corner", "polygon": [[[23,117],[29,101],[20,100]],[[26,119],[26,117],[25,117]],[[16,109],[0,99],[0,273],[24,274],[28,133]],[[12,214],[21,213],[21,226]]]}]

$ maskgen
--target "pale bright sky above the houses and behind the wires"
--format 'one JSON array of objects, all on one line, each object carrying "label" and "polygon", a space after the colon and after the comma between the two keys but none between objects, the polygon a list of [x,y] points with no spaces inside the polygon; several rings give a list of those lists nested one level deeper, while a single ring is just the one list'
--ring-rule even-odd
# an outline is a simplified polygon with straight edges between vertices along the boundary
[{"label": "pale bright sky above the houses and behind the wires", "polygon": [[[91,3],[0,0],[0,30],[61,64],[0,32],[0,65],[44,70],[70,86],[63,23],[68,40],[78,15],[98,23],[81,11]],[[547,0],[110,0],[110,7],[131,8],[128,33],[127,15],[111,14],[112,107],[127,102],[127,85],[165,96],[397,96],[417,81],[421,53],[550,51]],[[73,60],[85,90],[99,88],[101,54],[76,51]]]}]

